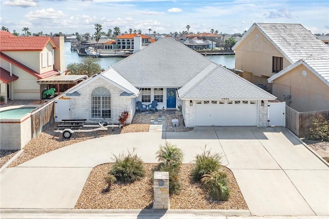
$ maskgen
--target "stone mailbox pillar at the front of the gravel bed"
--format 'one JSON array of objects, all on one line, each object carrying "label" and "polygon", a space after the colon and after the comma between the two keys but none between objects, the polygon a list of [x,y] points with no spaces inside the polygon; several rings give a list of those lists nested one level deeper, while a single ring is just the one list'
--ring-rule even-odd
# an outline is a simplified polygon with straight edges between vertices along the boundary
[{"label": "stone mailbox pillar at the front of the gravel bed", "polygon": [[153,209],[169,209],[169,172],[154,172]]}]

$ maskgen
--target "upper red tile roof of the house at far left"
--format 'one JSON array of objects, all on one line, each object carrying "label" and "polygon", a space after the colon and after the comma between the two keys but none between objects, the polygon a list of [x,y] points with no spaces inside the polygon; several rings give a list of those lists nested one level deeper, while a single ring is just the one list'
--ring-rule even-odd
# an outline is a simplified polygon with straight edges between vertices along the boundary
[{"label": "upper red tile roof of the house at far left", "polygon": [[42,51],[49,42],[52,48],[57,49],[48,36],[15,36],[8,31],[0,31],[0,51]]}]

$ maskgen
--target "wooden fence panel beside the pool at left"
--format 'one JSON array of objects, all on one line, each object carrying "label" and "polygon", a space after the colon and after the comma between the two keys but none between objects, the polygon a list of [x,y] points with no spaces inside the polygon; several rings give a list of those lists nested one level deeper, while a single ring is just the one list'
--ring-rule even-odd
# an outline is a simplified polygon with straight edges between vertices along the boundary
[{"label": "wooden fence panel beside the pool at left", "polygon": [[31,137],[36,137],[54,122],[54,101],[49,101],[31,112]]}]

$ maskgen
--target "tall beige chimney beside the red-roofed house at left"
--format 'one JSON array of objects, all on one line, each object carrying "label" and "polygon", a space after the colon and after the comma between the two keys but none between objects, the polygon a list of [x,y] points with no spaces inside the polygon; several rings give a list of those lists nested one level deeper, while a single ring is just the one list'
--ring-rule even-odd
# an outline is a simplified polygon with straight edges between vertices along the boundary
[{"label": "tall beige chimney beside the red-roofed house at left", "polygon": [[52,38],[53,42],[56,44],[57,49],[54,50],[54,68],[59,70],[61,73],[65,71],[65,44],[64,36],[54,36]]}]

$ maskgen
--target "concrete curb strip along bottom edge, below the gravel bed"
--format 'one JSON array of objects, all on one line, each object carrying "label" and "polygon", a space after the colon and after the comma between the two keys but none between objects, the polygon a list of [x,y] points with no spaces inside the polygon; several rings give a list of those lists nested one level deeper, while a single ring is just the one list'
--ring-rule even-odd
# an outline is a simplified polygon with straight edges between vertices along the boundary
[{"label": "concrete curb strip along bottom edge, below the gravel bed", "polygon": [[251,216],[249,210],[0,209],[2,218],[195,218]]}]

